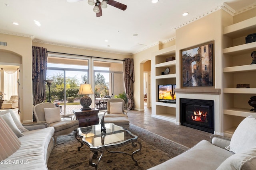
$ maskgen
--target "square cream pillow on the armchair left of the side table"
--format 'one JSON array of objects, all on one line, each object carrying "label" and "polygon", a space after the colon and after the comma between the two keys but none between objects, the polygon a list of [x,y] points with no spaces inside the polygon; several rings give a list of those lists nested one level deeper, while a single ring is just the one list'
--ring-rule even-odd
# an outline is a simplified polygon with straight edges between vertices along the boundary
[{"label": "square cream pillow on the armchair left of the side table", "polygon": [[45,121],[47,121],[48,123],[61,121],[60,108],[59,107],[44,108],[44,116],[45,116]]}]

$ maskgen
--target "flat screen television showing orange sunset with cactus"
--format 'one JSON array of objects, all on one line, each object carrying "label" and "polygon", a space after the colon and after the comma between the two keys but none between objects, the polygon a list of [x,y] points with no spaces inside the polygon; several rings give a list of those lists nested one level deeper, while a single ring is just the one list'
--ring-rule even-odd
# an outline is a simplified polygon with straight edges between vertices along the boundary
[{"label": "flat screen television showing orange sunset with cactus", "polygon": [[158,85],[158,102],[176,103],[176,84]]}]

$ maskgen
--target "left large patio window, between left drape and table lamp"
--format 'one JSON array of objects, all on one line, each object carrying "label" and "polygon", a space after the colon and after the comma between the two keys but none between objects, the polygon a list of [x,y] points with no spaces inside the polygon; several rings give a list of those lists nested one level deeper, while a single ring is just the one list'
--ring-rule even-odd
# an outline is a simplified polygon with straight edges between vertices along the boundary
[{"label": "left large patio window, between left drape and table lamp", "polygon": [[72,115],[74,109],[82,107],[82,96],[77,93],[80,84],[88,83],[88,78],[88,60],[48,57],[46,79],[53,83],[46,90],[46,100],[59,106],[62,116]]}]

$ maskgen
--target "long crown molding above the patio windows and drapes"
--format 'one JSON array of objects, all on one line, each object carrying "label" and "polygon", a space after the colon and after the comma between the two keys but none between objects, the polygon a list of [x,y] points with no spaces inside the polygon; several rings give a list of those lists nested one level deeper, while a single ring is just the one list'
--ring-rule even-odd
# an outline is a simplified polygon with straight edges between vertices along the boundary
[{"label": "long crown molding above the patio windows and drapes", "polygon": [[132,53],[121,53],[121,52],[116,52],[116,51],[107,51],[107,50],[102,50],[102,49],[86,48],[86,47],[81,47],[81,46],[76,46],[76,45],[68,45],[68,44],[54,43],[54,42],[49,42],[49,41],[42,41],[40,39],[32,39],[32,41],[36,42],[36,43],[44,43],[44,44],[50,44],[50,45],[58,45],[58,46],[62,46],[62,47],[71,47],[71,48],[76,48],[76,49],[100,51],[100,52],[104,52],[104,53],[114,53],[114,54],[121,54],[121,55],[132,55]]}]

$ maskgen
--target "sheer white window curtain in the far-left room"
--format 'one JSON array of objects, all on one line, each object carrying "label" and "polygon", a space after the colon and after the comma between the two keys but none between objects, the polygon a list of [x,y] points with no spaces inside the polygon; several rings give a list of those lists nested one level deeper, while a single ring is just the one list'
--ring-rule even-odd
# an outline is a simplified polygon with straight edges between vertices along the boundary
[{"label": "sheer white window curtain in the far-left room", "polygon": [[18,70],[4,70],[4,99],[9,100],[11,96],[18,95]]}]

